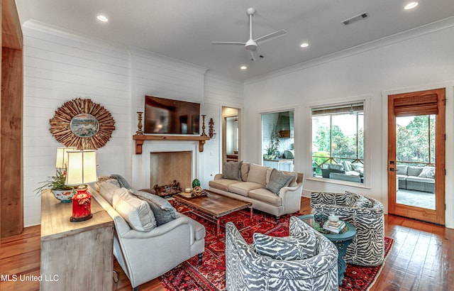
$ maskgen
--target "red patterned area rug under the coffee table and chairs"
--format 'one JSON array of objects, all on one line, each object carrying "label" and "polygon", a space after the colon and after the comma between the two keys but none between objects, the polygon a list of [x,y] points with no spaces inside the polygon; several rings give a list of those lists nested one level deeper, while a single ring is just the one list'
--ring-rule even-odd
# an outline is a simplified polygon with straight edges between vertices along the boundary
[{"label": "red patterned area rug under the coffee table and chairs", "polygon": [[[205,251],[202,265],[199,265],[197,256],[177,265],[169,272],[160,276],[161,284],[172,291],[218,291],[226,290],[226,256],[225,256],[225,229],[216,236],[216,224],[189,212],[187,208],[179,207],[179,212],[196,219],[206,228]],[[299,216],[299,213],[281,216],[276,224],[275,216],[254,210],[253,220],[250,221],[249,210],[242,210],[223,216],[221,225],[232,221],[240,230],[243,238],[252,243],[253,234],[259,232],[270,236],[288,236],[290,216]],[[392,246],[392,238],[385,238],[385,256]],[[347,264],[343,286],[339,290],[367,290],[375,278],[380,274],[382,265],[377,267],[361,267]]]}]

